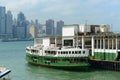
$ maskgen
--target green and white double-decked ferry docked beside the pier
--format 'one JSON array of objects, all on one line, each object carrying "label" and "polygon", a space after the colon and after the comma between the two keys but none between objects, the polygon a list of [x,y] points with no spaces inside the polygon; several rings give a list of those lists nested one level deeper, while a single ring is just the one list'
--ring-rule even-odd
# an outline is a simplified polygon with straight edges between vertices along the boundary
[{"label": "green and white double-decked ferry docked beside the pier", "polygon": [[89,50],[79,47],[37,45],[26,47],[28,63],[64,70],[88,70]]}]

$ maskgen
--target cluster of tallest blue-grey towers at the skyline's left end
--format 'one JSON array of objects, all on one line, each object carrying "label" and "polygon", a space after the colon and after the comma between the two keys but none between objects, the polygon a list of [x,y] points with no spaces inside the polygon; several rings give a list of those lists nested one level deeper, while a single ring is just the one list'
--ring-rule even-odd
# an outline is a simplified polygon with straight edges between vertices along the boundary
[{"label": "cluster of tallest blue-grey towers at the skyline's left end", "polygon": [[0,6],[0,39],[26,39],[29,38],[29,21],[24,13],[20,12],[13,20],[11,11]]}]

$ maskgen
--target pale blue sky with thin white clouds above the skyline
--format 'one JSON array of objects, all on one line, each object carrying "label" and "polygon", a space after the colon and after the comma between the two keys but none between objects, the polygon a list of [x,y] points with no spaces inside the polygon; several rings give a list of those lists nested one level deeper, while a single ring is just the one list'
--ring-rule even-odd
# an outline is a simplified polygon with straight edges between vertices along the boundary
[{"label": "pale blue sky with thin white clouds above the skyline", "polygon": [[14,17],[21,11],[28,20],[63,20],[65,24],[109,24],[120,32],[120,0],[0,0]]}]

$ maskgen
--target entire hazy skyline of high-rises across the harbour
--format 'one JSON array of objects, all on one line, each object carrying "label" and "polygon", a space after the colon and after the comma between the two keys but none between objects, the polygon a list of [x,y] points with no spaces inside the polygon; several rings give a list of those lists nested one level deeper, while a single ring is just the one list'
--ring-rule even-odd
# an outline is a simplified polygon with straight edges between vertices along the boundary
[{"label": "entire hazy skyline of high-rises across the harbour", "polygon": [[[62,22],[62,23],[61,23]],[[55,35],[56,29],[58,30],[56,35],[62,34],[63,21],[46,20],[46,24],[40,24],[38,20],[26,20],[26,16],[23,12],[17,14],[17,18],[13,19],[13,15],[10,10],[6,10],[6,7],[0,6],[0,38],[1,39],[29,39],[31,38],[31,32],[29,29],[31,26],[35,28],[35,36],[40,37],[41,35]],[[56,27],[55,27],[56,25]],[[44,28],[45,27],[45,28]]]}]

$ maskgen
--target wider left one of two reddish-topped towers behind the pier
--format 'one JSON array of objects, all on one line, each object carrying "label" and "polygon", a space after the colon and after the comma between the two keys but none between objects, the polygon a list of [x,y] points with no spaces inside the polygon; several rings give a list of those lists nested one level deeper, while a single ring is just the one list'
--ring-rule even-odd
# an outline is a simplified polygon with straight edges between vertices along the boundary
[{"label": "wider left one of two reddish-topped towers behind the pier", "polygon": [[46,35],[54,34],[55,34],[54,20],[49,19],[46,21]]}]

